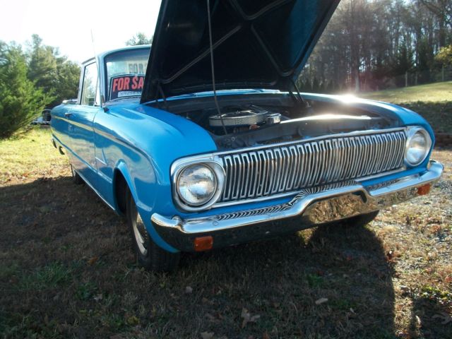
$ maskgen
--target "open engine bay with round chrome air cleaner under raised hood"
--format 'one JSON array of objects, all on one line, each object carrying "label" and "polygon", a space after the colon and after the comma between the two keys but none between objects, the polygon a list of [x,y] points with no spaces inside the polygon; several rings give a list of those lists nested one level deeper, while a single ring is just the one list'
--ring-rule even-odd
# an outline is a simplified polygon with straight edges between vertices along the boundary
[{"label": "open engine bay with round chrome air cleaner under raised hood", "polygon": [[[244,98],[245,97],[245,98]],[[388,117],[328,102],[227,98],[215,107],[204,100],[165,107],[206,129],[220,150],[297,141],[335,133],[385,129]],[[333,112],[333,113],[332,113]]]}]

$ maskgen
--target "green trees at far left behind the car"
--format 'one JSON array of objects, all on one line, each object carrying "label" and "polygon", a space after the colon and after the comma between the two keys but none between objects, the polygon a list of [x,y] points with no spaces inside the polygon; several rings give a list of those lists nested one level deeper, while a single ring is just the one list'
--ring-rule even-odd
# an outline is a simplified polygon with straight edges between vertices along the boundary
[{"label": "green trees at far left behind the car", "polygon": [[24,48],[0,41],[0,138],[30,124],[45,107],[77,97],[80,66],[32,35]]}]

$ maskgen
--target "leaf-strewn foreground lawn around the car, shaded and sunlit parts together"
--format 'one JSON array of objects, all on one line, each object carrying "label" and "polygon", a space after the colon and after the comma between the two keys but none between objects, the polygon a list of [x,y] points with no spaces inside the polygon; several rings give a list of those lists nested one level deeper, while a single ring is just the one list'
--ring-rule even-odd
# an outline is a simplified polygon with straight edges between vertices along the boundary
[{"label": "leaf-strewn foreground lawn around the car, shaded and sunlit parts together", "polygon": [[49,136],[0,141],[0,338],[451,338],[450,150],[429,196],[365,228],[185,254],[167,275],[136,265]]}]

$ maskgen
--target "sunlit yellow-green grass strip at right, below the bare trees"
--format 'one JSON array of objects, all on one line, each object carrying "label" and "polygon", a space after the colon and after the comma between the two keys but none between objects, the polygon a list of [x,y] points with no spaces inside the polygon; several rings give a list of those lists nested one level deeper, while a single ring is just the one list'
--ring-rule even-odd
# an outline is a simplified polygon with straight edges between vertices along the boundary
[{"label": "sunlit yellow-green grass strip at right, below the bare trees", "polygon": [[384,102],[444,102],[452,101],[452,81],[444,83],[429,83],[392,90],[380,90],[378,92],[360,93],[360,97]]}]

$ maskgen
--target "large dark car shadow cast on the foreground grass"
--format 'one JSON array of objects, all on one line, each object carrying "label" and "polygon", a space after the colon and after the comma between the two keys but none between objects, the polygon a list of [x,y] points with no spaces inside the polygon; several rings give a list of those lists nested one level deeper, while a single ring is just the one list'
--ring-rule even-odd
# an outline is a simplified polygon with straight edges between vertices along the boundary
[{"label": "large dark car shadow cast on the foreground grass", "polygon": [[0,208],[6,338],[395,338],[392,270],[367,228],[185,254],[168,275],[136,266],[124,221],[70,178],[1,187]]}]

